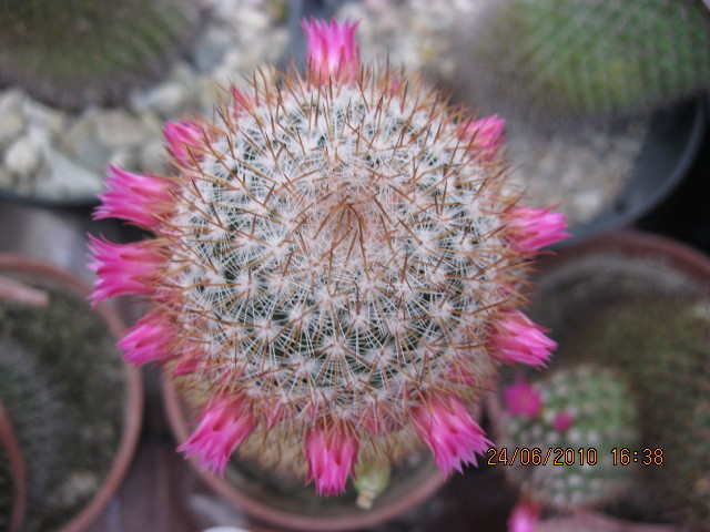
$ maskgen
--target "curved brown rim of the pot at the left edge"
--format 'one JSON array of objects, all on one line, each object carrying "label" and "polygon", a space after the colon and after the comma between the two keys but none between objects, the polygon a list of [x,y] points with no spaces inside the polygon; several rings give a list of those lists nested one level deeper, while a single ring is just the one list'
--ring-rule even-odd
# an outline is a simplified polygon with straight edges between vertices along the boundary
[{"label": "curved brown rim of the pot at the left edge", "polygon": [[[74,275],[20,254],[0,253],[0,273],[17,272],[38,274],[61,283],[68,291],[87,299],[91,288]],[[103,318],[114,338],[119,338],[125,329],[123,318],[114,307],[100,304],[95,311]],[[143,382],[139,370],[123,365],[125,378],[125,400],[121,440],[113,462],[99,490],[83,509],[67,522],[58,532],[80,532],[87,529],[109,504],[128,473],[142,424]]]}]

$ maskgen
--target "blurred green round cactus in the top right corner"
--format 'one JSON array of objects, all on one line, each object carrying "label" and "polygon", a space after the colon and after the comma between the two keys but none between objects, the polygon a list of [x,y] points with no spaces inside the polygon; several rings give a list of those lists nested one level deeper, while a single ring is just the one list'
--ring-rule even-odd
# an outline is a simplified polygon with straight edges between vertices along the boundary
[{"label": "blurred green round cactus in the top right corner", "polygon": [[629,115],[710,84],[710,11],[700,0],[494,3],[471,31],[469,83],[506,116]]}]

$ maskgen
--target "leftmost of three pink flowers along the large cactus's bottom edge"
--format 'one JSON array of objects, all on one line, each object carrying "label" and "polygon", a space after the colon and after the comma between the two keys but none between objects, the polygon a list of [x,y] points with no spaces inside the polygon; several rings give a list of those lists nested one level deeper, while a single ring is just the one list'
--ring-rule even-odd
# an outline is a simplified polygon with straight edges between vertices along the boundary
[{"label": "leftmost of three pink flowers along the large cactus's bottom edge", "polygon": [[242,399],[216,396],[202,411],[200,424],[178,450],[196,456],[203,470],[224,477],[234,450],[256,427],[253,413]]}]

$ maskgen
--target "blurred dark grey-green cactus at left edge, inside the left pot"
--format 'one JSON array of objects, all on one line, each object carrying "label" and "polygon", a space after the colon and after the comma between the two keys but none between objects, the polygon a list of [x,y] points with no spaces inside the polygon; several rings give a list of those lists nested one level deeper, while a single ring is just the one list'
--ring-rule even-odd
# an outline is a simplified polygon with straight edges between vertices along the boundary
[{"label": "blurred dark grey-green cactus at left edge, inside the left pot", "polygon": [[0,339],[0,395],[18,436],[28,474],[27,519],[23,530],[40,530],[38,514],[61,474],[61,420],[57,386],[38,367],[33,354]]}]

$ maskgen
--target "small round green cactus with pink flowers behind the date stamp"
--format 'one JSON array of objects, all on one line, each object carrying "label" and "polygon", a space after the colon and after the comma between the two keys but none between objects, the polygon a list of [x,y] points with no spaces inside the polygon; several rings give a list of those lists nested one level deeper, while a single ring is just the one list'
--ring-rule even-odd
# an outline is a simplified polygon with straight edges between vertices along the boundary
[{"label": "small round green cactus with pink flowers behind the date stamp", "polygon": [[526,499],[555,509],[588,508],[628,489],[633,468],[615,464],[610,450],[636,449],[638,416],[617,374],[582,364],[531,383],[519,376],[505,399],[500,449]]}]

